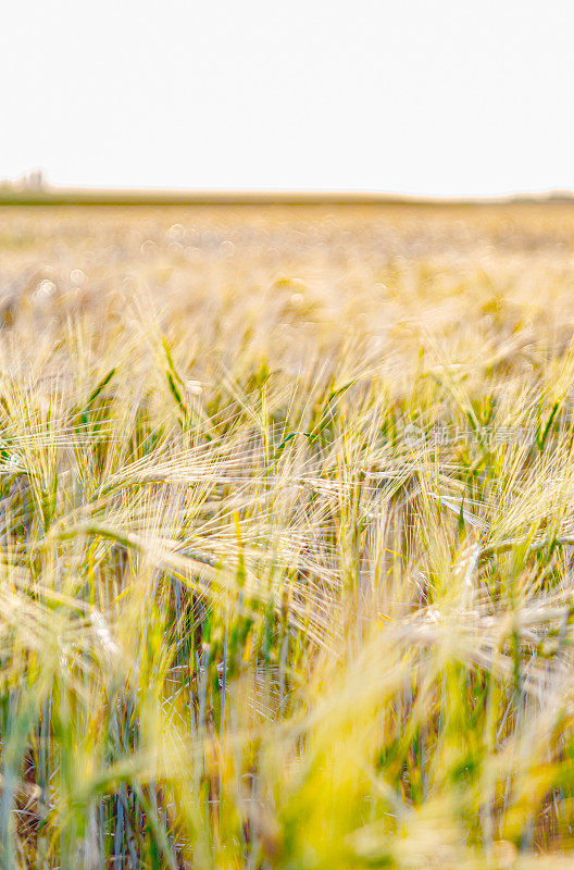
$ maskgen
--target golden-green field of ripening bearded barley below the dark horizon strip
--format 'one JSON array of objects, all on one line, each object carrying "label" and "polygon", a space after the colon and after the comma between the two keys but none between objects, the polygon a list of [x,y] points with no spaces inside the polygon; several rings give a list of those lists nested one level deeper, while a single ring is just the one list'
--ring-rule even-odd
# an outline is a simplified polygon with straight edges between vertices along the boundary
[{"label": "golden-green field of ripening bearded barley below the dark horizon strip", "polygon": [[0,867],[574,861],[574,206],[0,211]]}]

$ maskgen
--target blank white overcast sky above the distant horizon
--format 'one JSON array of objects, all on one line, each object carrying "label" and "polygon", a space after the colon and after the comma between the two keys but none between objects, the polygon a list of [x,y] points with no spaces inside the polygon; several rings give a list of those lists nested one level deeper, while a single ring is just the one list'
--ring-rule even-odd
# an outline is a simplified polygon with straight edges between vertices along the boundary
[{"label": "blank white overcast sky above the distant horizon", "polygon": [[574,188],[573,0],[0,0],[0,177]]}]

